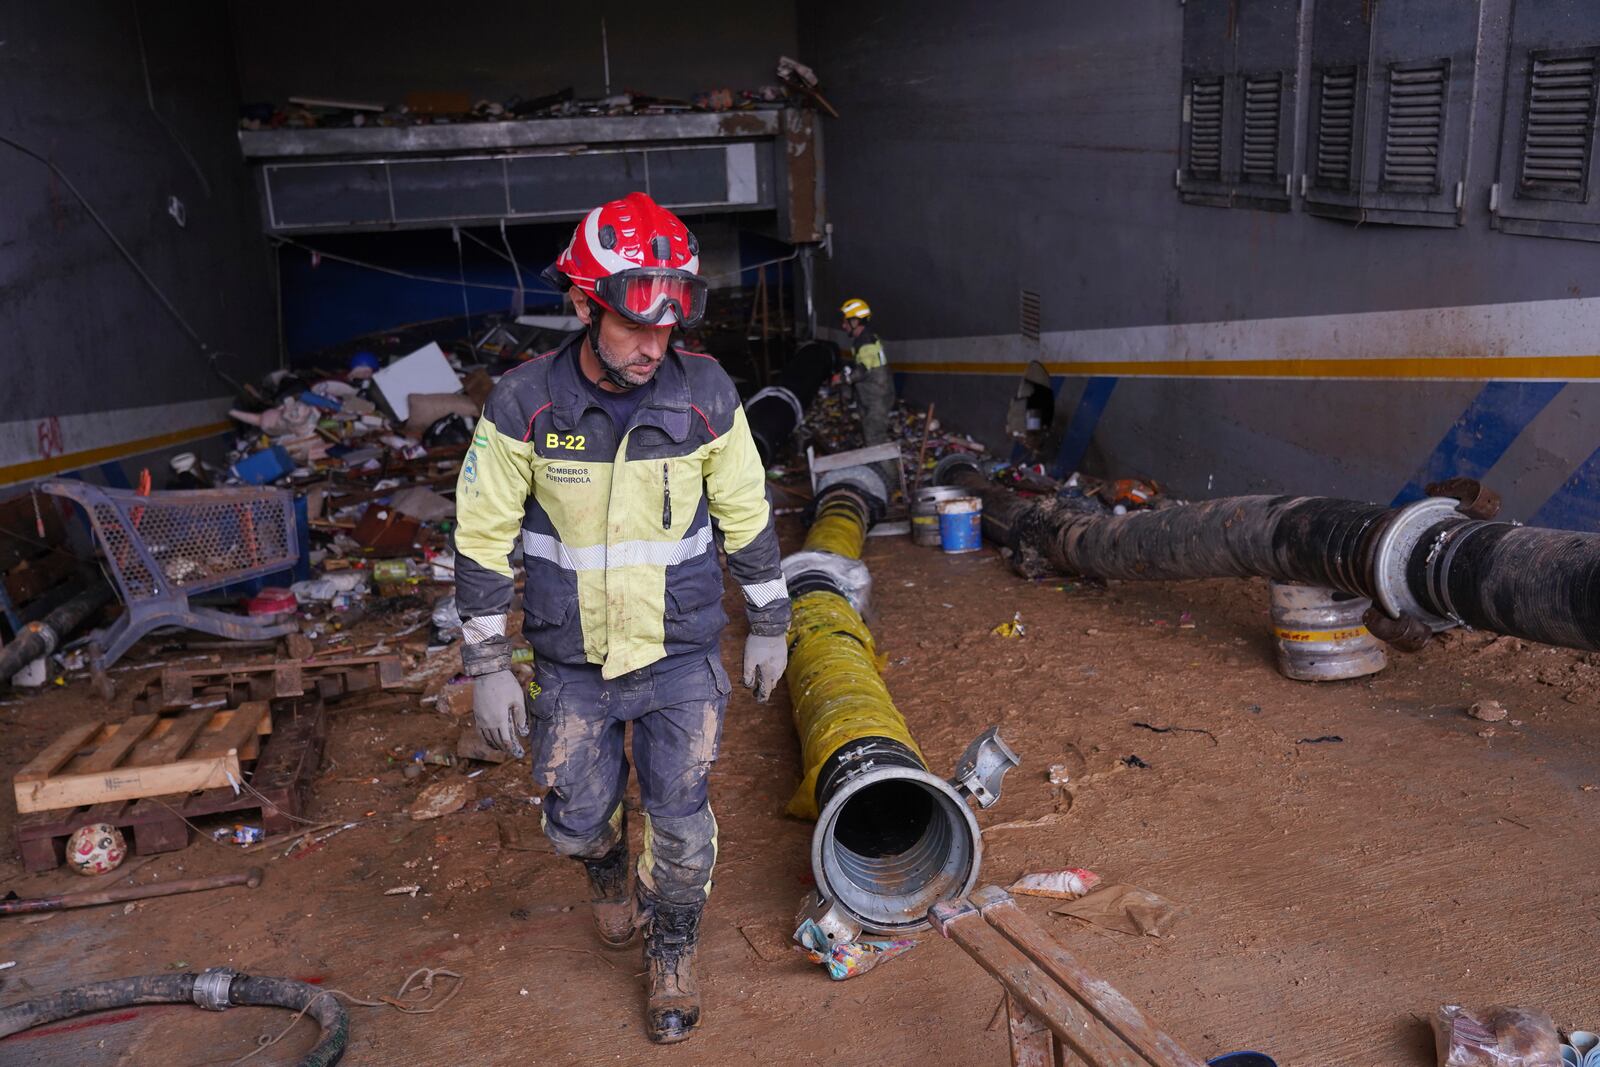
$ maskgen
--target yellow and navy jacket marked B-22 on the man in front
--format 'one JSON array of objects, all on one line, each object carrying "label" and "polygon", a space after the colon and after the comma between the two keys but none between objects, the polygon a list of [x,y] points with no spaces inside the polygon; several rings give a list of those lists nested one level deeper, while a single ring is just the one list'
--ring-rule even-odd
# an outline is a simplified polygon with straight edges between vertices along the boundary
[{"label": "yellow and navy jacket marked B-22 on the man in front", "polygon": [[784,633],[766,472],[726,371],[670,349],[618,440],[579,378],[581,342],[507,373],[472,437],[456,485],[467,640],[504,632],[520,534],[523,633],[539,657],[614,678],[704,648],[728,622],[712,518],[750,630]]}]

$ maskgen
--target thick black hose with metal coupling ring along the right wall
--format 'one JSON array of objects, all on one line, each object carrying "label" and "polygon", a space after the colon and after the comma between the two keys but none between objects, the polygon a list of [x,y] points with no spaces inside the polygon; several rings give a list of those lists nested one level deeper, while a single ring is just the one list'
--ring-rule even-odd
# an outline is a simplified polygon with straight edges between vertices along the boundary
[{"label": "thick black hose with metal coupling ring along the right wall", "polygon": [[1469,493],[1398,509],[1232,496],[1098,515],[1022,499],[970,461],[936,477],[982,496],[984,534],[1022,566],[1117,579],[1259,576],[1334,589],[1371,598],[1368,627],[1402,648],[1451,625],[1600,648],[1600,534],[1490,522],[1494,509]]}]

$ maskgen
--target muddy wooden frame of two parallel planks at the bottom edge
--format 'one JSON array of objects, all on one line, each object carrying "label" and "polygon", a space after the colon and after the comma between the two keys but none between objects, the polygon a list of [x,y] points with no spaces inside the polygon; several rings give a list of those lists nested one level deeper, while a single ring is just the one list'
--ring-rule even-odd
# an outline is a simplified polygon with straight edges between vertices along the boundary
[{"label": "muddy wooden frame of two parallel planks at the bottom edge", "polygon": [[1013,1067],[1205,1067],[1000,886],[934,904],[928,920],[1005,987]]}]

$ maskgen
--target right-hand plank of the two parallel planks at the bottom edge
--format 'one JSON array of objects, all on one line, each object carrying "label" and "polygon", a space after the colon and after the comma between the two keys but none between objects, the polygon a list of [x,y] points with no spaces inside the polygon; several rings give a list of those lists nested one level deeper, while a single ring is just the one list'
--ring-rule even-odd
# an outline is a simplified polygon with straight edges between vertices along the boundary
[{"label": "right-hand plank of the two parallel planks at the bottom edge", "polygon": [[1154,1067],[1205,1067],[1203,1061],[1166,1035],[1138,1005],[1078,963],[1038,923],[1024,915],[1008,893],[986,886],[970,899],[986,923],[1000,931]]}]

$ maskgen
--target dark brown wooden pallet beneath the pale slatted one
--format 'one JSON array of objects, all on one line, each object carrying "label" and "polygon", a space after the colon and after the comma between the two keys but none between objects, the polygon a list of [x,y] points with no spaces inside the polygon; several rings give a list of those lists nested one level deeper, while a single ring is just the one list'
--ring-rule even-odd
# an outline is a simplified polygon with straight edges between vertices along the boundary
[{"label": "dark brown wooden pallet beneath the pale slatted one", "polygon": [[[182,720],[186,715],[176,718]],[[235,718],[226,721],[234,723]],[[189,728],[189,723],[182,726]],[[226,728],[227,725],[222,726]],[[131,752],[138,753],[141,744],[160,744],[176,729],[179,728],[174,723],[163,737],[134,744]],[[328,715],[322,699],[312,694],[302,699],[274,701],[270,731],[264,741],[256,734],[259,757],[254,769],[243,779],[250,782],[250,790],[235,792],[222,785],[190,793],[106,800],[18,816],[16,840],[22,865],[27,870],[59,867],[64,862],[67,838],[90,822],[109,822],[118,827],[130,837],[133,851],[141,856],[186,848],[189,845],[186,819],[194,821],[202,816],[234,814],[240,821],[259,822],[267,835],[291,830],[296,819],[304,816],[310,781],[317,774],[328,736]],[[213,736],[218,734],[221,731]]]}]

